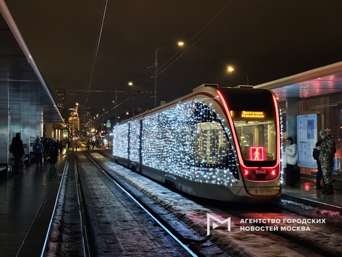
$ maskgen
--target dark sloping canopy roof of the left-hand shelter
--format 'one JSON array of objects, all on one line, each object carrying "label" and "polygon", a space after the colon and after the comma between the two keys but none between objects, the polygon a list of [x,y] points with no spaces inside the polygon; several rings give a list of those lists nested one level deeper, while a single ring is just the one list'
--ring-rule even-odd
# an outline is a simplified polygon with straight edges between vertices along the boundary
[{"label": "dark sloping canopy roof of the left-hand shelter", "polygon": [[11,114],[64,122],[48,85],[44,81],[6,5],[0,4],[0,109]]}]

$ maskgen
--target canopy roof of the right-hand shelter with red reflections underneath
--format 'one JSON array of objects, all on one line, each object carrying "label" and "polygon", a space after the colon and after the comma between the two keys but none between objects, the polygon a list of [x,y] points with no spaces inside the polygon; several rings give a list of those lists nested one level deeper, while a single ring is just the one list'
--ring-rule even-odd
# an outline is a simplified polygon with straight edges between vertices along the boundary
[{"label": "canopy roof of the right-hand shelter with red reflections underneath", "polygon": [[254,86],[271,89],[279,98],[311,97],[342,93],[342,62]]}]

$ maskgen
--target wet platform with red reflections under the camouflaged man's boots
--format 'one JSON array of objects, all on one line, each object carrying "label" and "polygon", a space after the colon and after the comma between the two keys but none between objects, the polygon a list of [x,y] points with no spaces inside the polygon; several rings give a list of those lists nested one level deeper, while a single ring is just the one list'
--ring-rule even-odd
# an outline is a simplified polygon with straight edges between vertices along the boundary
[{"label": "wet platform with red reflections under the camouflaged man's boots", "polygon": [[342,185],[333,185],[334,195],[321,194],[323,189],[316,190],[316,180],[301,178],[300,182],[295,183],[295,187],[289,188],[283,184],[281,199],[342,213]]}]

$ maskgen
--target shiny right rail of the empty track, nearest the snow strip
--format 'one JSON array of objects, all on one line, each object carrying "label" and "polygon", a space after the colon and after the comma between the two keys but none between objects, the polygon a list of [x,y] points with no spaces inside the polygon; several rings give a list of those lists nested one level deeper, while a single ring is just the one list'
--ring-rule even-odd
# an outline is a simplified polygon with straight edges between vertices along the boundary
[{"label": "shiny right rail of the empty track, nearest the snow strip", "polygon": [[[98,169],[101,170],[101,172],[106,175],[106,177],[113,182],[118,188],[120,188],[126,195],[128,195],[138,206],[140,206],[140,208],[146,212],[169,236],[171,236],[184,250],[186,250],[186,252],[190,255],[190,256],[201,256],[198,255],[197,253],[195,253],[192,249],[190,249],[186,243],[182,242],[182,239],[179,238],[179,236],[177,236],[175,233],[172,232],[172,228],[170,226],[168,226],[168,224],[165,224],[165,222],[163,222],[163,220],[158,217],[157,213],[154,213],[152,211],[152,209],[148,208],[148,206],[146,206],[144,203],[142,203],[140,200],[138,200],[136,197],[133,196],[133,194],[129,193],[128,190],[126,190],[124,188],[124,186],[117,181],[113,176],[111,176],[108,172],[106,172],[105,170],[103,170],[88,154],[86,151],[84,151],[83,147],[80,147],[80,149],[82,149],[82,151],[84,152],[84,154],[86,154],[86,156],[98,167]],[[98,151],[97,151],[98,152]],[[77,166],[77,164],[75,163],[75,167]],[[149,209],[149,210],[148,210]]]}]

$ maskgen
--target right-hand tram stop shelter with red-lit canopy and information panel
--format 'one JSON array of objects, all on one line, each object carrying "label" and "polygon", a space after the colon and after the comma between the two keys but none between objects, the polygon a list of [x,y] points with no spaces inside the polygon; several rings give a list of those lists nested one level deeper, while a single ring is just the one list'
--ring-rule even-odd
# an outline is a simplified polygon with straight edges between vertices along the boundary
[{"label": "right-hand tram stop shelter with red-lit canopy and information panel", "polygon": [[[275,93],[283,123],[282,142],[285,145],[286,138],[292,137],[293,142],[297,144],[298,166],[302,178],[315,179],[317,163],[312,157],[312,151],[320,139],[318,133],[321,129],[327,130],[336,140],[335,156],[341,156],[342,62],[277,79],[254,88],[267,88]],[[317,117],[317,123],[310,117]],[[333,183],[342,183],[340,172],[334,173]]]}]

